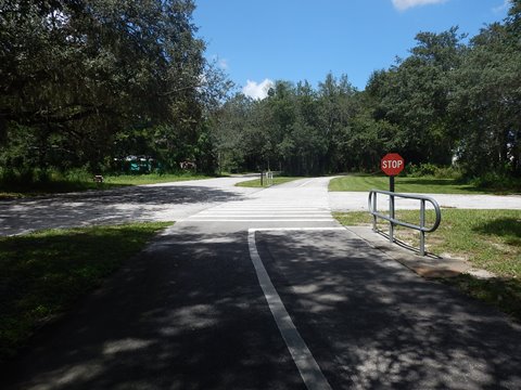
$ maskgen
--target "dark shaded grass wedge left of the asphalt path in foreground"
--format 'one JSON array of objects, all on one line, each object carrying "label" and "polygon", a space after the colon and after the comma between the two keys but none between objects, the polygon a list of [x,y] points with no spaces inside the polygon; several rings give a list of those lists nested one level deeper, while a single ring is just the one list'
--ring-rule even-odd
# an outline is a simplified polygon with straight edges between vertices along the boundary
[{"label": "dark shaded grass wedge left of the asphalt path in foreground", "polygon": [[168,222],[0,237],[0,362],[74,307]]}]

